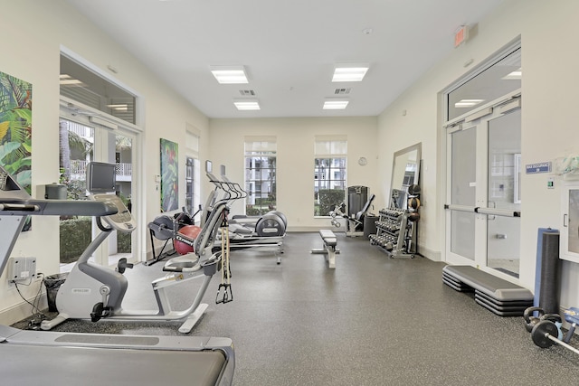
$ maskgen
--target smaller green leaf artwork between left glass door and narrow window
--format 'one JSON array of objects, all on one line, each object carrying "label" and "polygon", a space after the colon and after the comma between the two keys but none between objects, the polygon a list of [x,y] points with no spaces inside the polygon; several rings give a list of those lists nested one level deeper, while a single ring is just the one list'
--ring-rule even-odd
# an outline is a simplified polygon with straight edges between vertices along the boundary
[{"label": "smaller green leaf artwork between left glass door and narrow window", "polygon": [[179,206],[178,150],[178,144],[161,138],[161,212]]}]

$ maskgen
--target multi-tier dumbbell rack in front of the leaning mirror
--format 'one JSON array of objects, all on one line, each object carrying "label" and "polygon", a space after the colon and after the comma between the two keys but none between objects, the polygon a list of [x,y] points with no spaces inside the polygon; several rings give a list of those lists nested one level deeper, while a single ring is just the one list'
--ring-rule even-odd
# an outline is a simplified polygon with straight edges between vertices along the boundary
[{"label": "multi-tier dumbbell rack in front of the leaning mirror", "polygon": [[416,254],[416,229],[413,221],[408,221],[409,213],[398,208],[381,209],[370,243],[391,258],[412,259]]}]

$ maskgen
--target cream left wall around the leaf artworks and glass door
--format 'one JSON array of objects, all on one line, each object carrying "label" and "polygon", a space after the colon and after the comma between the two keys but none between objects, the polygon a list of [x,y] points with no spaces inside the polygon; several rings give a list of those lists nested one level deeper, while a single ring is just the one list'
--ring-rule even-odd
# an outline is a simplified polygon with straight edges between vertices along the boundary
[{"label": "cream left wall around the leaf artworks and glass door", "polygon": [[[39,184],[51,184],[59,176],[59,73],[61,46],[75,52],[101,71],[110,64],[118,74],[114,80],[138,93],[144,101],[139,118],[144,129],[142,160],[136,161],[142,177],[141,207],[138,210],[141,247],[150,249],[147,221],[160,212],[160,198],[154,175],[159,174],[159,137],[179,143],[180,165],[185,165],[185,126],[201,132],[200,157],[208,157],[208,119],[194,106],[177,96],[139,63],[121,49],[108,35],[96,29],[81,14],[62,0],[19,0],[4,2],[4,21],[0,34],[5,36],[0,71],[33,84],[33,192]],[[185,167],[180,168],[181,181]],[[203,184],[206,184],[203,181]],[[185,203],[185,189],[179,192]],[[14,247],[14,256],[37,257],[37,270],[45,275],[59,272],[58,219],[33,219],[33,231],[23,234]],[[23,287],[25,297],[32,298],[40,282]],[[5,276],[0,278],[0,323],[13,323],[30,306],[14,288],[8,287]],[[6,312],[9,311],[9,312]]]}]

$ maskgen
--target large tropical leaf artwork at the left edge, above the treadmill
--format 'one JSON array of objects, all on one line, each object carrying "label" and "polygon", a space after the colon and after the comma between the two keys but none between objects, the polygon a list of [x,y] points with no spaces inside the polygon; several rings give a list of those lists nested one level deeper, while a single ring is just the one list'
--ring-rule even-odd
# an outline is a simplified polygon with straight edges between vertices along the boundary
[{"label": "large tropical leaf artwork at the left edge, above the treadmill", "polygon": [[[0,71],[0,165],[27,193],[32,185],[33,85]],[[30,229],[30,217],[24,230]]]}]

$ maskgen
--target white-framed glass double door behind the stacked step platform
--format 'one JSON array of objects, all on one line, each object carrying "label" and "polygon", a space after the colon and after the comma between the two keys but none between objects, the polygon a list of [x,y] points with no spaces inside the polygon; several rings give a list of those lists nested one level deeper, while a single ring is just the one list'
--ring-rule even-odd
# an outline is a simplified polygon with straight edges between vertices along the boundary
[{"label": "white-framed glass double door behind the stacked step platform", "polygon": [[446,260],[518,278],[520,100],[487,112],[447,127]]}]

